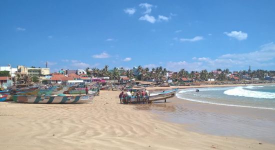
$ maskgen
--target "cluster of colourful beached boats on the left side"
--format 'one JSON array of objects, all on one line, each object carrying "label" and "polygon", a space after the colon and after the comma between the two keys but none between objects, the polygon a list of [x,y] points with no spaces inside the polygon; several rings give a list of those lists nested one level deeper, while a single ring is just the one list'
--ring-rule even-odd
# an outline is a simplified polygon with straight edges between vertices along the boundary
[{"label": "cluster of colourful beached boats on the left side", "polygon": [[[98,95],[97,88],[88,86],[86,94],[85,85],[74,85],[70,87],[51,86],[51,87],[25,87],[16,90],[0,90],[0,101],[12,98],[18,103],[86,103],[90,102],[95,95]],[[96,90],[94,90],[96,89]],[[10,98],[8,98],[10,97]]]}]

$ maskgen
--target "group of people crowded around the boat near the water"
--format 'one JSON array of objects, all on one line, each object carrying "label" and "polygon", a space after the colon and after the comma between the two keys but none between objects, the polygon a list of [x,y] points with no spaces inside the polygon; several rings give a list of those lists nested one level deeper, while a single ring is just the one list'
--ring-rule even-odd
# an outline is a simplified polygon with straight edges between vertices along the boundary
[{"label": "group of people crowded around the boat near the water", "polygon": [[120,103],[131,103],[131,98],[136,98],[136,103],[141,103],[141,101],[142,103],[146,103],[149,102],[149,97],[150,93],[147,89],[141,91],[136,90],[135,93],[132,90],[124,93],[124,91],[122,90],[119,94]]}]

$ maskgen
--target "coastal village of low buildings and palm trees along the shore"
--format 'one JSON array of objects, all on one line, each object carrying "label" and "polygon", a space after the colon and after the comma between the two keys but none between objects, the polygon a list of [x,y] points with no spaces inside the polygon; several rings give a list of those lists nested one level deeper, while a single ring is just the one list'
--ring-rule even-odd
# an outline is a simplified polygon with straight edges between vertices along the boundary
[{"label": "coastal village of low buildings and palm trees along the shore", "polygon": [[74,85],[76,83],[90,83],[94,81],[108,84],[133,84],[139,86],[180,86],[199,84],[235,84],[235,83],[267,83],[275,80],[275,71],[248,70],[230,71],[229,69],[216,69],[207,71],[169,71],[161,66],[156,68],[143,68],[140,65],[132,69],[114,67],[109,69],[105,65],[99,68],[60,69],[51,72],[50,68],[0,66],[0,87],[6,88],[17,84],[55,84]]}]

